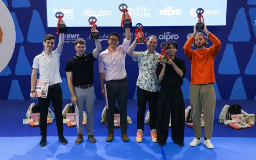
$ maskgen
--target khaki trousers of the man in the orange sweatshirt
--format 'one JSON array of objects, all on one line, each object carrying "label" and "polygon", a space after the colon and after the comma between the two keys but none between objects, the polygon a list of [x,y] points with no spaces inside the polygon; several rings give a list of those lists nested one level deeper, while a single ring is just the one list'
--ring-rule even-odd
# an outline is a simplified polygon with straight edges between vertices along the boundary
[{"label": "khaki trousers of the man in the orange sweatshirt", "polygon": [[210,139],[213,131],[216,95],[213,84],[190,85],[189,100],[195,138],[202,137],[201,113],[204,114],[204,137]]}]

